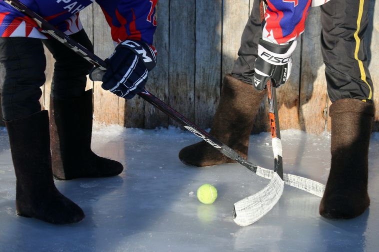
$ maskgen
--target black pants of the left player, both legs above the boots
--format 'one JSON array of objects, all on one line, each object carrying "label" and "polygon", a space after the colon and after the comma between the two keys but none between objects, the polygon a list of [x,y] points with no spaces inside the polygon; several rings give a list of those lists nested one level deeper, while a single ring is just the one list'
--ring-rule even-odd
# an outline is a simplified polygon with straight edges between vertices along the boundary
[{"label": "black pants of the left player, both legs above the boots", "polygon": [[[70,37],[93,51],[92,43],[84,30]],[[45,82],[46,68],[42,43],[55,59],[51,85],[54,97],[74,98],[85,91],[85,75],[92,64],[56,39],[1,37],[0,62],[5,67],[1,108],[6,121],[23,118],[41,110],[40,87]]]}]

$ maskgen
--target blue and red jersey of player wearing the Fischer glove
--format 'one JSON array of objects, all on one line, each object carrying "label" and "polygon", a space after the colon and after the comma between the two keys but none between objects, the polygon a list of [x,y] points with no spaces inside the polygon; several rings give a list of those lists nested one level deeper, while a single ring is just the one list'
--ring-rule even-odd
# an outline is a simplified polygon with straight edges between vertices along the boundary
[{"label": "blue and red jersey of player wearing the Fischer glove", "polygon": [[275,44],[296,39],[304,31],[310,6],[318,6],[329,0],[266,0],[263,39]]}]

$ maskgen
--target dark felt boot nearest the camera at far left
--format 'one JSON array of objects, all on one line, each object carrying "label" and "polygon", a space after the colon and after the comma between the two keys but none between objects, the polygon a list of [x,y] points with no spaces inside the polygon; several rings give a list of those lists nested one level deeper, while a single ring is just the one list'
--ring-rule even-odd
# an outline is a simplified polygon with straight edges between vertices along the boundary
[{"label": "dark felt boot nearest the camera at far left", "polygon": [[83,211],[55,188],[51,172],[47,110],[5,122],[16,175],[16,213],[53,224],[84,218]]}]

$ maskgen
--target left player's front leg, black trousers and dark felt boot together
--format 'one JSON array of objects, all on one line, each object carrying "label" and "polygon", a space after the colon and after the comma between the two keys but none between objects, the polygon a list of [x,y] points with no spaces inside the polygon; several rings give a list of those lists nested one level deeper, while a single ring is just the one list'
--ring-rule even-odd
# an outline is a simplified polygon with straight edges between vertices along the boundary
[{"label": "left player's front leg, black trousers and dark felt boot together", "polygon": [[0,61],[6,74],[2,110],[16,175],[16,211],[48,223],[82,220],[82,210],[55,188],[51,173],[49,122],[40,111],[45,57],[39,39],[0,38]]}]

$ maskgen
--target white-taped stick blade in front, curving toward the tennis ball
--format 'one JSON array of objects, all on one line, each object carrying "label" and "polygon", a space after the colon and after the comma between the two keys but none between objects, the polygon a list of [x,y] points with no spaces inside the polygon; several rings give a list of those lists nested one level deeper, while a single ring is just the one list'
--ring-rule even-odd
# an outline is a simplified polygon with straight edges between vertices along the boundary
[{"label": "white-taped stick blade in front, curving toward the tennis ball", "polygon": [[245,227],[262,218],[280,199],[283,188],[284,182],[277,173],[274,173],[270,183],[265,188],[234,204],[234,222]]}]

